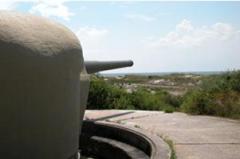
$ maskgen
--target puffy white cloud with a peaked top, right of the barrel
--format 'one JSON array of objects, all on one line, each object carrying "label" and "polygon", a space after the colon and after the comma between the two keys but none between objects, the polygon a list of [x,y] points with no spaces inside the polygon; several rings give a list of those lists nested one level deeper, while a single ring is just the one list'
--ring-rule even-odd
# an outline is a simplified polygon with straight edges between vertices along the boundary
[{"label": "puffy white cloud with a peaked top, right of the barrel", "polygon": [[147,40],[150,47],[201,47],[239,38],[239,30],[227,23],[216,23],[211,26],[194,27],[188,20],[176,25],[175,30],[165,36]]}]

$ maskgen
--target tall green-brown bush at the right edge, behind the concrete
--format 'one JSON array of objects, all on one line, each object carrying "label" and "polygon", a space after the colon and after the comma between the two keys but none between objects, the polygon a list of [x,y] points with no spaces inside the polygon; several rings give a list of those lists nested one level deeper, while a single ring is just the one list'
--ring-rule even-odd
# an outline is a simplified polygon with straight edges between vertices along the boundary
[{"label": "tall green-brown bush at the right edge, behind the concrete", "polygon": [[206,78],[199,89],[185,95],[181,110],[240,118],[240,71]]}]

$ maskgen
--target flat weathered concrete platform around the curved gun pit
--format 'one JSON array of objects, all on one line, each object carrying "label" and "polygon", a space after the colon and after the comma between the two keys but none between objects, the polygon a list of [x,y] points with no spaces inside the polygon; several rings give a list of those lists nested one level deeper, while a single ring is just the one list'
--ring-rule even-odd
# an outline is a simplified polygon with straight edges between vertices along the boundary
[{"label": "flat weathered concrete platform around the curved gun pit", "polygon": [[85,119],[139,127],[171,139],[178,159],[239,159],[240,121],[157,111],[86,111]]}]

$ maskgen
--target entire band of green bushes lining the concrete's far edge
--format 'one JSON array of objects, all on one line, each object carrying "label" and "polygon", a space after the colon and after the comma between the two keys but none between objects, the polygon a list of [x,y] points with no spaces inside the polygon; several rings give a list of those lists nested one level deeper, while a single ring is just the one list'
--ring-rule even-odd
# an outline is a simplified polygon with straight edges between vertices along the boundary
[{"label": "entire band of green bushes lining the concrete's far edge", "polygon": [[240,71],[207,76],[184,97],[162,90],[155,93],[138,88],[132,93],[111,85],[100,77],[91,81],[88,109],[140,109],[240,118]]}]

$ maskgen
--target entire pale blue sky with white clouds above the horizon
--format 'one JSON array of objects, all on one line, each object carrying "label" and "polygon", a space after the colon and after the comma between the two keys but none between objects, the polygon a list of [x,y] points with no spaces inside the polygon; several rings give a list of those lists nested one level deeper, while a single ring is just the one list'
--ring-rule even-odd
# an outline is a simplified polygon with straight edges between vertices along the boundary
[{"label": "entire pale blue sky with white clouds above the horizon", "polygon": [[132,59],[106,73],[240,69],[240,2],[0,0],[79,38],[85,60]]}]

